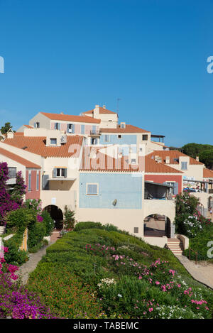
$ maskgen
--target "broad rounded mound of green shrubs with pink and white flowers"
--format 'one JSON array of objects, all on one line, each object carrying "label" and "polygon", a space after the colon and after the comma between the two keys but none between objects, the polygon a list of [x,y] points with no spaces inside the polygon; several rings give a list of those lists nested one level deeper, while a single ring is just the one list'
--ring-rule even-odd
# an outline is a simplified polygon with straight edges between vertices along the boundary
[{"label": "broad rounded mound of green shrubs with pink and white flowers", "polygon": [[[84,226],[88,227],[86,222]],[[69,275],[70,283],[72,275],[75,277],[74,289],[67,283]],[[69,317],[69,303],[75,308],[74,295],[80,293],[75,283],[88,288],[95,304],[99,303],[102,317],[212,317],[212,291],[192,280],[173,253],[117,231],[87,228],[68,232],[48,247],[46,256],[30,275],[28,288],[37,290],[45,305]],[[57,302],[54,290],[58,291]],[[82,318],[89,304],[86,298],[81,298],[79,307]],[[98,317],[97,310],[86,312],[89,318]],[[76,318],[76,312],[70,311],[69,318]]]}]

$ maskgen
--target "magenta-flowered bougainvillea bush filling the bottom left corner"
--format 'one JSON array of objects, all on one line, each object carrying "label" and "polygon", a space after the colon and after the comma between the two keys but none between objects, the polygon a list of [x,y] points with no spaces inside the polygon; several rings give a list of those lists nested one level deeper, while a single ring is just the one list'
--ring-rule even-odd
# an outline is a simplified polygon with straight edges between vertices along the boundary
[{"label": "magenta-flowered bougainvillea bush filling the bottom left corner", "polygon": [[[4,252],[8,249],[5,247]],[[40,302],[35,293],[20,288],[17,283],[18,267],[0,258],[0,319],[51,319],[55,316]]]}]

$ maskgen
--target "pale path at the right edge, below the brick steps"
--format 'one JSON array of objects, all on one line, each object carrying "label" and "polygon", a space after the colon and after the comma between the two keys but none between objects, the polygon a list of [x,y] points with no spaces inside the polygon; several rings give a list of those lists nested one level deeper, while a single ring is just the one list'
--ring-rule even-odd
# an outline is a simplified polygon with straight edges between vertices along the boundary
[{"label": "pale path at the right edge, below the brick steps", "polygon": [[186,256],[176,256],[192,278],[213,289],[213,264],[207,261],[190,261]]}]

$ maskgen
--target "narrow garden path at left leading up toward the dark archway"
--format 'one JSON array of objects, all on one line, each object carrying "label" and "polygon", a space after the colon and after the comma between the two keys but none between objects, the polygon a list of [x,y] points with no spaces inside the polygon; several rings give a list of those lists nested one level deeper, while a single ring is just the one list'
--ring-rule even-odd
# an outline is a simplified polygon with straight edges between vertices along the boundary
[{"label": "narrow garden path at left leading up toward the dark archway", "polygon": [[[60,238],[60,231],[53,231],[53,233],[50,236],[50,243],[48,246],[55,243]],[[26,263],[23,263],[23,265],[19,268],[18,275],[21,277],[21,282],[23,285],[25,285],[28,281],[29,274],[34,271],[36,268],[38,261],[45,256],[46,249],[48,246],[44,246],[42,249],[40,249],[36,253],[30,253],[29,260]]]}]

